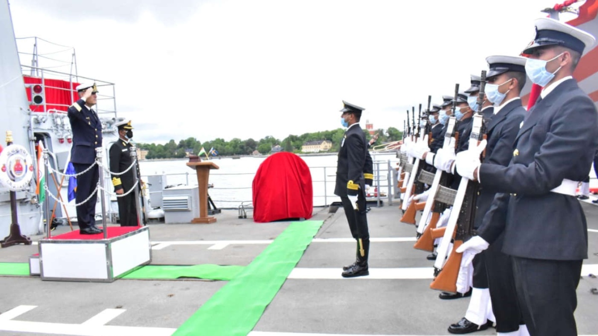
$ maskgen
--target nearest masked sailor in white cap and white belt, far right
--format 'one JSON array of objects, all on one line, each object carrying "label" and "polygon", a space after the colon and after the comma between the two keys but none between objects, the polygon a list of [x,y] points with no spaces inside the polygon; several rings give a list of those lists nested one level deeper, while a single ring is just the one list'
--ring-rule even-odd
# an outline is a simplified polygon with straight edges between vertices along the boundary
[{"label": "nearest masked sailor in white cap and white belt, far right", "polygon": [[[575,197],[598,148],[598,112],[572,74],[594,36],[553,19],[535,22],[525,69],[544,87],[527,112],[507,167],[480,164],[484,143],[457,154],[457,172],[497,194],[474,236],[457,252],[479,253],[504,234],[515,289],[532,336],[577,335],[573,312],[587,222]],[[492,287],[492,284],[490,285]]]}]

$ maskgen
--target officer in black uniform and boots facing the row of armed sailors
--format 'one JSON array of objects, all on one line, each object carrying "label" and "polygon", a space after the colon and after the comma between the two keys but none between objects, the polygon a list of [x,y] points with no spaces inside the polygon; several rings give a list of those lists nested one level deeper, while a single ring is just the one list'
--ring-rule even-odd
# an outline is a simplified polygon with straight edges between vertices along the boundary
[{"label": "officer in black uniform and boots facing the row of armed sailors", "polygon": [[343,277],[367,276],[368,253],[370,252],[370,232],[365,207],[364,169],[368,146],[365,135],[359,127],[359,119],[364,108],[343,100],[340,110],[341,124],[347,127],[338,151],[337,177],[334,194],[340,196],[344,213],[349,222],[351,235],[357,241],[356,259],[351,265],[343,267]]}]

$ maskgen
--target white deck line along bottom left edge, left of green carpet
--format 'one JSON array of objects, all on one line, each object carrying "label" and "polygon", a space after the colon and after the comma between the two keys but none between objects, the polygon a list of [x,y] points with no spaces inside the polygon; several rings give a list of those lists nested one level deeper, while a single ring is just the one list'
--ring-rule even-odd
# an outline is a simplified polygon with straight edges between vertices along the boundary
[{"label": "white deck line along bottom left edge, left of green carpet", "polygon": [[175,328],[147,326],[83,325],[71,323],[49,323],[10,320],[0,323],[0,330],[13,332],[35,332],[37,334],[77,336],[170,336]]}]

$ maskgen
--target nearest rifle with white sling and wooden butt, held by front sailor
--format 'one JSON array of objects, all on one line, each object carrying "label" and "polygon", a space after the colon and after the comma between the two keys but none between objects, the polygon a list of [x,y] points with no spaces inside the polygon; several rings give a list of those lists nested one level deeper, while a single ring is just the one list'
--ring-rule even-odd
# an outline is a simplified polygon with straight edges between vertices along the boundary
[{"label": "nearest rifle with white sling and wooden butt, held by front sailor", "polygon": [[[478,94],[478,111],[474,115],[471,136],[469,136],[469,148],[478,145],[484,135],[484,118],[481,114],[481,103],[483,102],[484,88],[486,87],[486,71],[481,72],[480,93]],[[453,209],[449,216],[449,223],[444,231],[443,240],[438,247],[438,256],[434,263],[435,279],[430,288],[444,292],[457,291],[457,276],[461,266],[462,253],[455,250],[459,248],[472,235],[472,224],[475,219],[475,205],[477,203],[478,182],[469,181],[468,178],[461,178],[459,188],[454,197]],[[450,240],[454,237],[453,249],[449,255]]]}]

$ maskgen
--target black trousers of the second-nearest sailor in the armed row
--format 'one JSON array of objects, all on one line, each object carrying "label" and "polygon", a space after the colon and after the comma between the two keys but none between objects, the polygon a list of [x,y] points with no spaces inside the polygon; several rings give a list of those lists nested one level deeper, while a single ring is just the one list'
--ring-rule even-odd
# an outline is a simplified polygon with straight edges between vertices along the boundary
[{"label": "black trousers of the second-nearest sailor in the armed row", "polygon": [[504,237],[505,235],[501,234],[482,253],[486,255],[486,271],[492,311],[496,317],[496,332],[513,332],[523,324],[523,316],[515,291],[511,256],[501,252]]}]

